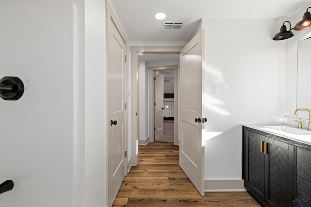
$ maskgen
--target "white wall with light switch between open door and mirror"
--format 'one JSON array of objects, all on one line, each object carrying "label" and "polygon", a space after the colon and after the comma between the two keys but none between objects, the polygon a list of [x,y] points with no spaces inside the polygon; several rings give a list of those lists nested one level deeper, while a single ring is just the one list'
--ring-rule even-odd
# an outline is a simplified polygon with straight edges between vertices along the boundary
[{"label": "white wall with light switch between open door and mirror", "polygon": [[[206,179],[241,178],[241,124],[276,123],[282,112],[278,101],[285,98],[285,43],[272,40],[278,32],[275,24],[275,20],[202,21]],[[211,96],[214,85],[218,95]]]}]

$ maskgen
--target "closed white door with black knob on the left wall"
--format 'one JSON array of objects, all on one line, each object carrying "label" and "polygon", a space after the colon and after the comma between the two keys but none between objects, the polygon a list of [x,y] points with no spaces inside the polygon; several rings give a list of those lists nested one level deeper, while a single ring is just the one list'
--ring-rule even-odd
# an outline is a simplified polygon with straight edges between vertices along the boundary
[{"label": "closed white door with black knob on the left wall", "polygon": [[113,17],[107,23],[108,206],[125,176],[125,54],[126,41]]}]

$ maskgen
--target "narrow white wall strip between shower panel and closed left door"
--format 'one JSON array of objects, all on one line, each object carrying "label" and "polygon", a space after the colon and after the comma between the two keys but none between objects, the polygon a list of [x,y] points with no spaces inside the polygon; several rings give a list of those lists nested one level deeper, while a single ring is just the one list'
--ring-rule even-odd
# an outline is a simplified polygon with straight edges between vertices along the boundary
[{"label": "narrow white wall strip between shower panel and closed left door", "polygon": [[86,2],[85,207],[106,205],[106,17],[104,0]]}]

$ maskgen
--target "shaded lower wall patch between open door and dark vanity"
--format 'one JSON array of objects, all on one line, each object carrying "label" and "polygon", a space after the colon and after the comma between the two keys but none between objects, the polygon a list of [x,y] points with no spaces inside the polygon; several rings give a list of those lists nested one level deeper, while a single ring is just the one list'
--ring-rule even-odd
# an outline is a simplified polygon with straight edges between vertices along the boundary
[{"label": "shaded lower wall patch between open door and dark vanity", "polygon": [[215,135],[209,137],[204,143],[205,178],[241,178],[242,125],[224,132],[204,133],[207,136]]}]

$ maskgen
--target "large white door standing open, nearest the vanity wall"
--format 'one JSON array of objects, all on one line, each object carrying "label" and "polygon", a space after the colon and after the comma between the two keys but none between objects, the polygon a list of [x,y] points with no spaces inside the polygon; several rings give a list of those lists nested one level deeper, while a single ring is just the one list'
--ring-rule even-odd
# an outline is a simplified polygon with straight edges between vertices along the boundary
[{"label": "large white door standing open, nearest the vanity wall", "polygon": [[179,165],[204,196],[202,146],[204,30],[180,51]]}]

